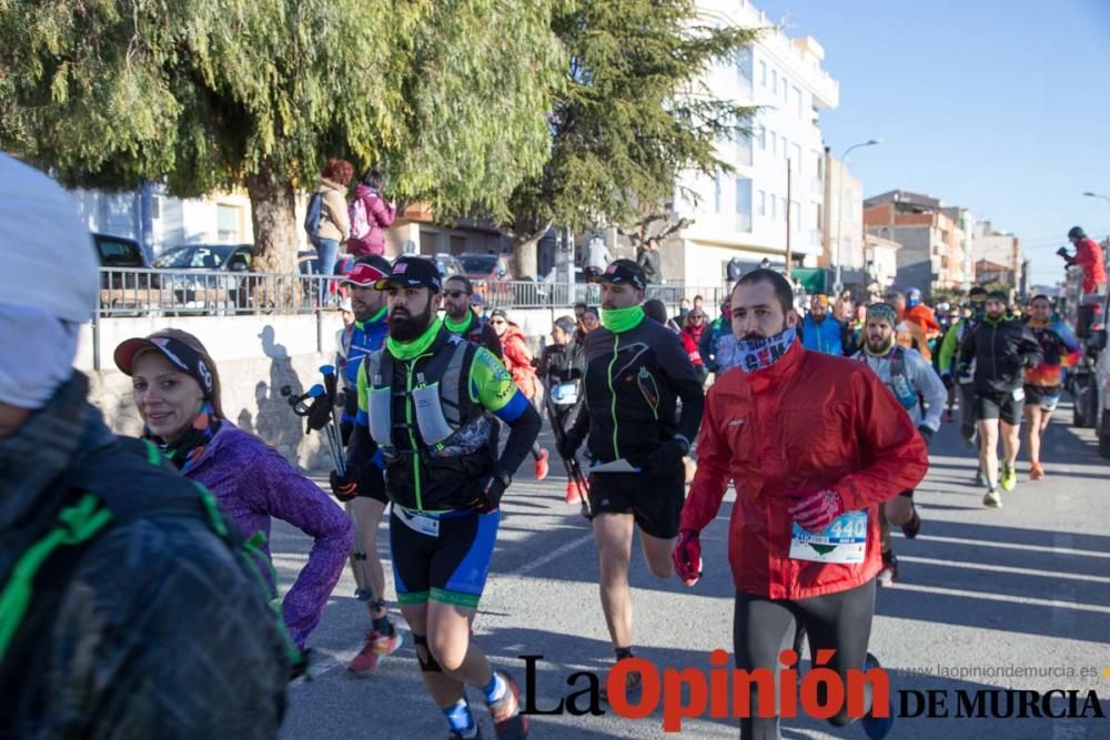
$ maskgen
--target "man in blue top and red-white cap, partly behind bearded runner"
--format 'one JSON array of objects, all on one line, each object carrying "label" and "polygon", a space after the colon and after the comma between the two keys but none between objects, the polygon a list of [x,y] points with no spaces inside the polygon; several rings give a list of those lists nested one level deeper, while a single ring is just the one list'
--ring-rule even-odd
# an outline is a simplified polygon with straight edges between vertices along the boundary
[{"label": "man in blue top and red-white cap, partly behind bearded runner", "polygon": [[[343,278],[342,284],[351,290],[351,311],[354,323],[343,330],[340,335],[340,372],[343,378],[343,440],[350,442],[357,424],[365,427],[365,409],[359,408],[359,375],[366,355],[382,348],[389,333],[385,316],[385,294],[374,288],[374,284],[390,271],[390,263],[382,256],[365,255],[355,261],[354,268]],[[361,422],[360,422],[361,417]],[[390,620],[385,608],[385,570],[382,558],[377,555],[377,529],[385,514],[389,497],[385,495],[385,480],[382,477],[381,456],[377,448],[370,443],[360,450],[364,455],[355,465],[349,465],[349,470],[360,470],[359,477],[340,477],[331,475],[332,493],[343,501],[347,513],[355,520],[355,531],[362,538],[366,564],[370,566],[370,582],[361,582],[362,568],[354,560],[351,569],[359,591],[370,592],[366,608],[370,610],[371,628],[366,630],[366,639],[362,650],[347,663],[352,673],[364,675],[374,670],[379,662],[393,655],[401,647],[402,638],[396,627]]]}]

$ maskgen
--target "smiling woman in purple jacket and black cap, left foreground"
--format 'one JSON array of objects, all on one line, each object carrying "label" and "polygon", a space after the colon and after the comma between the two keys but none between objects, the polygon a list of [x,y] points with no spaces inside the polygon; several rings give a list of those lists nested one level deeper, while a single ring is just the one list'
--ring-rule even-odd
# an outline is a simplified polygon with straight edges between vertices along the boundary
[{"label": "smiling woman in purple jacket and black cap, left foreground", "polygon": [[[115,347],[115,365],[133,381],[143,436],[211,490],[245,537],[261,531],[269,540],[275,517],[315,540],[282,602],[290,635],[304,648],[351,553],[351,520],[276,450],[224,418],[215,364],[192,334],[168,328],[127,339]],[[261,549],[260,570],[276,597],[269,544]]]}]

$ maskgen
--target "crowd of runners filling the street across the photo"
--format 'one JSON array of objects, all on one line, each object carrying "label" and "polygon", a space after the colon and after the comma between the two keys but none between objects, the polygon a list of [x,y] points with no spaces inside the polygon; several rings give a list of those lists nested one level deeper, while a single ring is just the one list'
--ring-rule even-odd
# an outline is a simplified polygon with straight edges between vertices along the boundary
[{"label": "crowd of runners filling the street across the photo", "polygon": [[[390,216],[380,178],[363,182],[365,214]],[[4,737],[274,737],[286,682],[311,672],[312,631],[349,561],[370,620],[349,670],[372,673],[411,640],[450,737],[481,737],[467,688],[497,738],[526,737],[519,688],[471,625],[514,475],[529,457],[537,479],[548,475],[544,418],[572,473],[565,499],[591,520],[615,661],[635,648],[634,533],[652,574],[694,587],[724,566],[703,561],[699,538],[731,486],[737,667],[774,670],[803,638],[811,655],[834,649],[828,667],[841,676],[878,666],[867,649],[876,586],[899,578],[890,527],[908,538],[922,528],[914,490],[929,443],[958,407],[979,458],[968,483],[986,489],[983,506],[1002,506],[1019,483],[1022,424],[1028,480],[1051,473],[1040,438],[1079,352],[1043,295],[1018,304],[975,287],[958,305],[930,306],[917,288],[869,304],[818,293],[800,307],[791,284],[760,267],[722,305],[692,296],[668,316],[645,301],[644,261],[614,260],[591,274],[599,306],[556,318],[534,356],[509,313],[475,311],[465,276],[363,254],[343,278],[345,393],[329,392],[325,406],[300,399],[309,423],[334,435],[330,488],[344,514],[224,416],[218,365],[185,332],[115,348],[144,430],[114,437],[72,371],[99,290],[74,204],[7,156],[0,183],[11,236],[0,253]],[[335,225],[350,237],[350,224]],[[1102,273],[1092,290],[1104,283]],[[376,541],[386,517],[406,630],[386,601]],[[274,518],[313,547],[271,612]],[[214,680],[221,671],[234,690]],[[639,690],[629,672],[626,693]],[[869,702],[860,722],[885,737],[892,719]],[[854,719],[844,709],[829,721]],[[741,720],[743,737],[778,733],[777,718]]]}]

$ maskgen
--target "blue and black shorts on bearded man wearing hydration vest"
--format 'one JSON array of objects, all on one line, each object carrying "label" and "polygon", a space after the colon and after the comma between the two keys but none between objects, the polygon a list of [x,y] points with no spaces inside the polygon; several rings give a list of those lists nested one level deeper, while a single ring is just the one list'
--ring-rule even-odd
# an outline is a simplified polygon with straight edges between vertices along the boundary
[{"label": "blue and black shorts on bearded man wearing hydration vest", "polygon": [[417,514],[397,506],[390,515],[390,550],[397,602],[430,599],[476,609],[497,541],[501,510],[492,514]]}]

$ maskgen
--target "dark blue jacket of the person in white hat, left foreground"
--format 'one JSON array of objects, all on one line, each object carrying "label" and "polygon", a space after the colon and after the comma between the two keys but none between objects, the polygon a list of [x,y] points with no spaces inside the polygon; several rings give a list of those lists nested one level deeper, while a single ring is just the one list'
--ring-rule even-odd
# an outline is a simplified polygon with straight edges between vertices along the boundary
[{"label": "dark blue jacket of the person in white hat, left foreground", "polygon": [[[193,484],[125,450],[87,392],[74,374],[0,439],[0,582],[70,494],[110,487],[143,514],[113,516],[36,574],[0,662],[0,737],[276,737],[289,667],[263,585],[201,516],[175,508],[196,498]],[[93,449],[118,463],[90,466]]]}]

